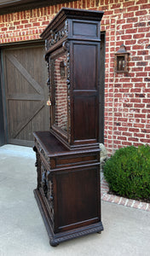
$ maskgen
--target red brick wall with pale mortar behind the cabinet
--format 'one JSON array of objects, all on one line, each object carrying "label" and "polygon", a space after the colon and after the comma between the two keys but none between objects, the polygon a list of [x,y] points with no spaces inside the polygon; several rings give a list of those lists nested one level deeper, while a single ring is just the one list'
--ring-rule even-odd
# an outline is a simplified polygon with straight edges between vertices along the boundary
[{"label": "red brick wall with pale mortar behind the cabinet", "polygon": [[[104,10],[106,32],[105,146],[110,152],[150,143],[149,0],[81,0],[0,16],[0,42],[38,39],[62,6]],[[114,53],[130,52],[129,73],[114,73]]]}]

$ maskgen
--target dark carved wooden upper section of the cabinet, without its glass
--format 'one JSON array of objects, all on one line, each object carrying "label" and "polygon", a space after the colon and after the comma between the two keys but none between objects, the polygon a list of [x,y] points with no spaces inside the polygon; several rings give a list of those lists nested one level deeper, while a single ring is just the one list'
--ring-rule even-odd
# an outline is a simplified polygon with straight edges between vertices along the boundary
[{"label": "dark carved wooden upper section of the cabinet, without its glass", "polygon": [[[99,145],[100,21],[103,13],[61,9],[42,33],[46,40],[51,100],[50,131],[67,148]],[[66,54],[67,129],[55,125],[54,62]]]}]

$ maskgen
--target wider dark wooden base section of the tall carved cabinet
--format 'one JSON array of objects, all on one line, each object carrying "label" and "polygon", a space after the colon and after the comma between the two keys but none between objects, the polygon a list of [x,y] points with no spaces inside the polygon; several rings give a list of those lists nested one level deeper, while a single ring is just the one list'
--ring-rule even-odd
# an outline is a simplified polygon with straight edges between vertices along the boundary
[{"label": "wider dark wooden base section of the tall carved cabinet", "polygon": [[[52,154],[49,148],[50,145],[45,147],[44,141],[41,143],[36,136],[34,150],[37,154],[38,186],[34,194],[50,245],[56,246],[61,241],[101,232],[100,151],[95,152],[97,160],[91,151],[84,152],[87,154],[86,162],[82,160],[82,165],[76,165],[74,161],[72,167],[71,155],[68,155],[68,166],[66,163],[65,168],[53,169],[50,163],[54,158],[59,161],[62,154],[66,154],[67,158],[67,149]],[[72,152],[72,159],[78,159],[80,154],[83,152]]]}]

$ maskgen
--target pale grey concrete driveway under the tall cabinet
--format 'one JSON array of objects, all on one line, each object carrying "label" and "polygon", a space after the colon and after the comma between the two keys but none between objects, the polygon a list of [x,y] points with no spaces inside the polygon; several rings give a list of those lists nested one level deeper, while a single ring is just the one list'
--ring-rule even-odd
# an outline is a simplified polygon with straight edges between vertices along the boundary
[{"label": "pale grey concrete driveway under the tall cabinet", "polygon": [[49,246],[34,199],[37,184],[32,148],[0,147],[0,256],[150,255],[150,212],[101,201],[101,235]]}]

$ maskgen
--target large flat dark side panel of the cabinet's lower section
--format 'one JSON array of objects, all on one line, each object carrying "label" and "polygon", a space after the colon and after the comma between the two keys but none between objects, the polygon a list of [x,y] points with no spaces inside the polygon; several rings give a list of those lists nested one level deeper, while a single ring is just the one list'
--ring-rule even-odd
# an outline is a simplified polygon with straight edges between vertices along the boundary
[{"label": "large flat dark side panel of the cabinet's lower section", "polygon": [[100,221],[99,168],[59,172],[57,187],[58,230],[70,230]]}]

